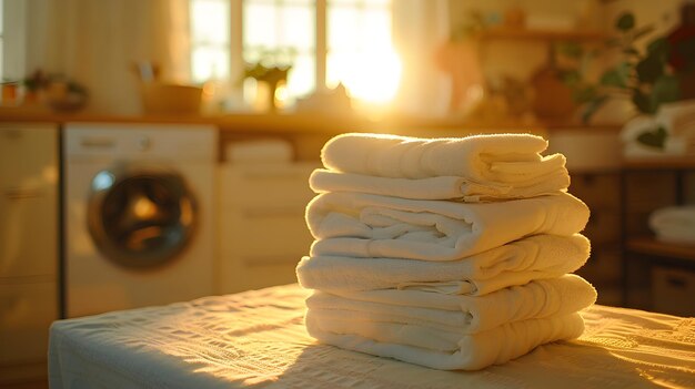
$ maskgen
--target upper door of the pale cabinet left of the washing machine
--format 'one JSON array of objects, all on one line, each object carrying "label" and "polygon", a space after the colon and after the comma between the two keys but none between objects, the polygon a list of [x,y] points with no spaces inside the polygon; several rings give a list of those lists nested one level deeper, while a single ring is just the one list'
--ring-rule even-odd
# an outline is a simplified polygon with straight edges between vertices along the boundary
[{"label": "upper door of the pale cabinet left of the washing machine", "polygon": [[54,275],[58,130],[0,125],[0,278]]}]

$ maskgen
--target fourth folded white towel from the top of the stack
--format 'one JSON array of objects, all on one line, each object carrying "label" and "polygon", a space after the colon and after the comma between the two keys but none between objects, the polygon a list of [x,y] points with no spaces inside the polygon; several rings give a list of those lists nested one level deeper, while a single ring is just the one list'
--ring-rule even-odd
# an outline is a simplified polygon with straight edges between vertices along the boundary
[{"label": "fourth folded white towel from the top of the stack", "polygon": [[532,279],[558,277],[582,267],[590,242],[570,237],[534,235],[486,252],[451,262],[346,256],[304,257],[296,266],[300,284],[331,293],[387,288],[443,289],[459,283],[459,293],[484,295]]}]

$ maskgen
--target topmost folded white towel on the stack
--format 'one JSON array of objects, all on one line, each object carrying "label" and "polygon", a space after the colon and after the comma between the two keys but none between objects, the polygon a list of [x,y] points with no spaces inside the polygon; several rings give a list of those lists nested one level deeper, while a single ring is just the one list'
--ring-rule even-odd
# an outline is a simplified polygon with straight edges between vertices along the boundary
[{"label": "topmost folded white towel on the stack", "polygon": [[561,154],[541,156],[547,142],[531,134],[419,139],[342,134],[321,152],[330,170],[380,177],[460,176],[481,185],[527,183],[565,168]]}]

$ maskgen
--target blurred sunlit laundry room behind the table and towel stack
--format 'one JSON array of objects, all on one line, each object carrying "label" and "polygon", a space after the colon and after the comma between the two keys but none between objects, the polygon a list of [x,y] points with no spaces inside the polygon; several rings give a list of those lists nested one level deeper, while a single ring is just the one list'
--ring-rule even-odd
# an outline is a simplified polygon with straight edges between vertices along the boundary
[{"label": "blurred sunlit laundry room behind the table and towel stack", "polygon": [[543,135],[598,304],[695,315],[695,1],[0,12],[0,387],[47,386],[56,319],[295,281],[309,174],[351,131]]}]

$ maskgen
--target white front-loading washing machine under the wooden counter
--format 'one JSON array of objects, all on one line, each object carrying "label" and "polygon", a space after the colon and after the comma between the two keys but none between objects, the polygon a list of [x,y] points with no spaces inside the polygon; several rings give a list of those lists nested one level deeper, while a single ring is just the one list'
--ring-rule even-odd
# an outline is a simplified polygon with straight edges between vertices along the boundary
[{"label": "white front-loading washing machine under the wooden counter", "polygon": [[63,129],[66,317],[211,295],[213,126]]}]

